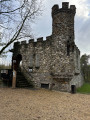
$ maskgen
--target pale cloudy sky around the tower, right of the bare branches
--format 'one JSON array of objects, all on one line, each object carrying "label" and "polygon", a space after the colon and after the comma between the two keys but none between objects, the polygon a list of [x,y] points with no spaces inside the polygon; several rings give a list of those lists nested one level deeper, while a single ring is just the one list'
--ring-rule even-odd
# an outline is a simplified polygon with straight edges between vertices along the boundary
[{"label": "pale cloudy sky around the tower, right of the bare branches", "polygon": [[62,7],[62,2],[76,6],[75,15],[75,43],[82,54],[90,54],[90,0],[43,0],[42,16],[33,25],[37,37],[45,37],[52,34],[51,8],[54,4]]}]

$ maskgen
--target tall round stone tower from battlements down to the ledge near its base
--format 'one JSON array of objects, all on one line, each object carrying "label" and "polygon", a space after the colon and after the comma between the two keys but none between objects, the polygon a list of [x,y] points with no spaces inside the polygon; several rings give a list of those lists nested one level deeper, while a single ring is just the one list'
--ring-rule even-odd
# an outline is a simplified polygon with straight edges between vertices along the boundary
[{"label": "tall round stone tower from battlements down to the ledge near its base", "polygon": [[54,73],[72,73],[75,70],[75,13],[75,5],[69,8],[68,2],[63,2],[60,9],[58,5],[52,7],[52,70]]}]

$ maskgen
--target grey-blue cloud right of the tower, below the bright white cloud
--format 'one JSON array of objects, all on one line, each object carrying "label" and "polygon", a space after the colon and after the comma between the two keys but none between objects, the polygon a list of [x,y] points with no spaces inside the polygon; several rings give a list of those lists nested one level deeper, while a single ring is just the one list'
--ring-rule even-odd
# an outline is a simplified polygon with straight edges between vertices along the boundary
[{"label": "grey-blue cloud right of the tower, below the bright white cloud", "polygon": [[76,19],[76,44],[81,50],[81,54],[90,54],[90,18],[78,19]]}]

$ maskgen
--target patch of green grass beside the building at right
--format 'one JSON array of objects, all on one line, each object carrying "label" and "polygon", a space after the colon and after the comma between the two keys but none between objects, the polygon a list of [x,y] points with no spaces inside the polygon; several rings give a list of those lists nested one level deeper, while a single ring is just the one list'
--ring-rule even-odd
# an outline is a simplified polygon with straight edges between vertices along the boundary
[{"label": "patch of green grass beside the building at right", "polygon": [[79,93],[90,93],[90,83],[84,83],[82,87],[77,89]]}]

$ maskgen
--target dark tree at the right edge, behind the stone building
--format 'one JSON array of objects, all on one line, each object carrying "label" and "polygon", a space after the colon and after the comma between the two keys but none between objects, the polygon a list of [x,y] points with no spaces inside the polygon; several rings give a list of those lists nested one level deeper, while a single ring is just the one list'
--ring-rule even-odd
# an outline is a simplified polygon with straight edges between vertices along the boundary
[{"label": "dark tree at the right edge, behind the stone building", "polygon": [[90,55],[82,55],[81,56],[81,59],[80,59],[80,62],[81,62],[81,70],[82,70],[82,73],[83,73],[83,76],[84,76],[84,80],[87,80],[88,79],[88,73],[89,73],[89,70],[90,70],[90,65],[89,65],[89,58],[90,58]]}]

